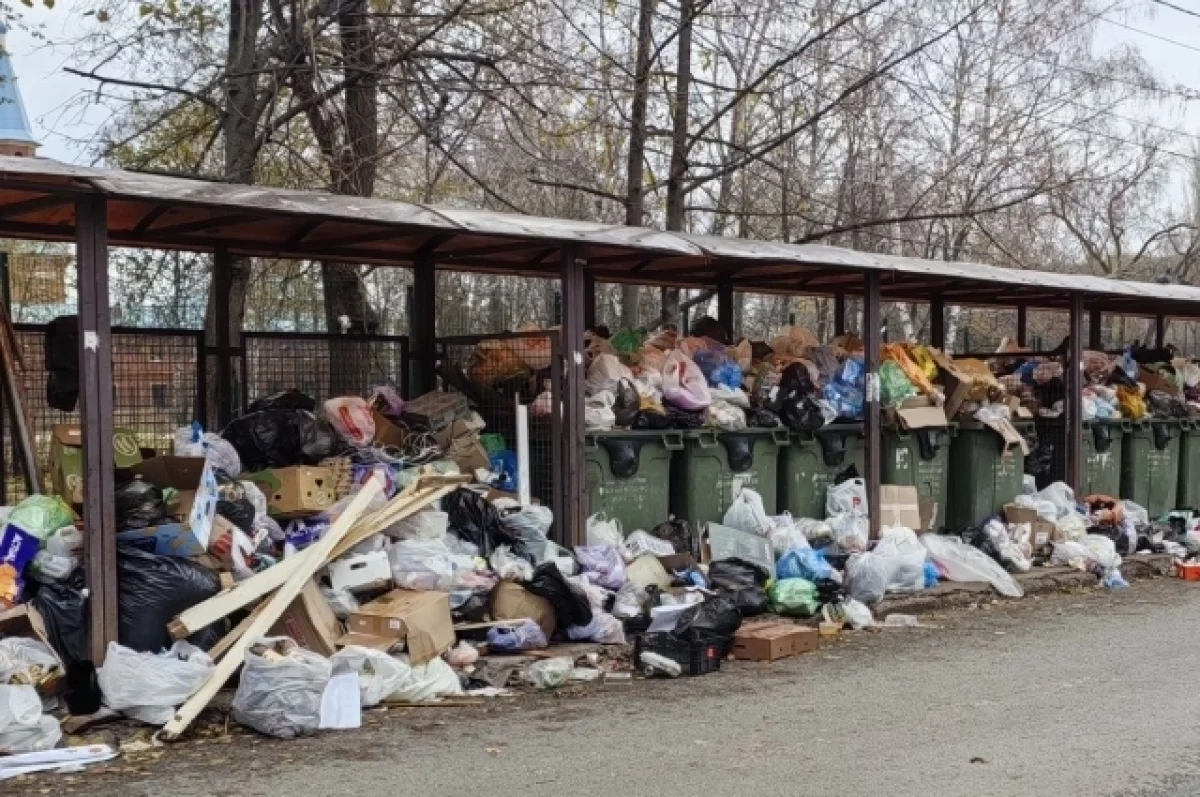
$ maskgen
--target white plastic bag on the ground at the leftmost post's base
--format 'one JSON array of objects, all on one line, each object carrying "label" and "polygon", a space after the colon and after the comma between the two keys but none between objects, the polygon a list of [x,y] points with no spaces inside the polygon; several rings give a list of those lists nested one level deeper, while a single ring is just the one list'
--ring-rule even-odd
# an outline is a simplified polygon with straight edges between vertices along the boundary
[{"label": "white plastic bag on the ground at the leftmost post's base", "polygon": [[212,659],[194,645],[175,642],[166,653],[138,653],[108,643],[96,673],[104,705],[146,725],[166,725],[212,675]]}]

